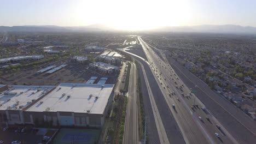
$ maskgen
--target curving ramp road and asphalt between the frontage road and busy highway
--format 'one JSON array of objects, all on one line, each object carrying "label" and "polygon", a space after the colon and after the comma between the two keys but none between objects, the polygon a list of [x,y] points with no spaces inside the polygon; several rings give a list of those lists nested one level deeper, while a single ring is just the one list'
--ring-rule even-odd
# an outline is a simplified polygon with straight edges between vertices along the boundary
[{"label": "curving ramp road and asphalt between the frontage road and busy highway", "polygon": [[[129,53],[129,52],[127,52]],[[153,78],[149,63],[144,58],[133,55],[139,64],[145,116],[149,117],[149,143],[185,143],[178,125],[168,108],[158,83]],[[158,135],[158,136],[156,136]]]}]

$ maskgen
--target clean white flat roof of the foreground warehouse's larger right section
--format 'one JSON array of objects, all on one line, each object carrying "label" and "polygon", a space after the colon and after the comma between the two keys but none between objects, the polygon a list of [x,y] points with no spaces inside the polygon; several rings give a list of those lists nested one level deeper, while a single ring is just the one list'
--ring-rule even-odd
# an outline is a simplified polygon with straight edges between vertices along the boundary
[{"label": "clean white flat roof of the foreground warehouse's larger right section", "polygon": [[114,85],[61,83],[27,111],[103,114]]}]

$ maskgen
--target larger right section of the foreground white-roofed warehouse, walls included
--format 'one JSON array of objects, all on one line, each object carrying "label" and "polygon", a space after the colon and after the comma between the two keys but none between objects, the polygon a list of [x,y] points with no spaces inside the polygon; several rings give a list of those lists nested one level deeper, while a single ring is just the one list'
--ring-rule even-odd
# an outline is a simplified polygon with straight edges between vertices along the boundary
[{"label": "larger right section of the foreground white-roofed warehouse, walls included", "polygon": [[61,83],[24,111],[25,123],[102,127],[114,85]]}]

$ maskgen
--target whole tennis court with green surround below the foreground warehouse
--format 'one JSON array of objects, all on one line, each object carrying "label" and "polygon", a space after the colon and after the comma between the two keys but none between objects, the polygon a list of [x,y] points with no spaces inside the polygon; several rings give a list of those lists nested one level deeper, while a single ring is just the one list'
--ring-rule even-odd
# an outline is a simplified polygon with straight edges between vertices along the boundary
[{"label": "whole tennis court with green surround below the foreground warehouse", "polygon": [[100,133],[98,129],[61,129],[54,138],[54,143],[94,144]]}]

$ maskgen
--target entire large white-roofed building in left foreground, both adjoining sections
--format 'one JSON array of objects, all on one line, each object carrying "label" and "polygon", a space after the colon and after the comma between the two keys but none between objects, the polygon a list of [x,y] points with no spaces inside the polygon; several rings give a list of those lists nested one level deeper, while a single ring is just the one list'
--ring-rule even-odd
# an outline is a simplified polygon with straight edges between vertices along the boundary
[{"label": "entire large white-roofed building in left foreground, both adjoining sections", "polygon": [[[2,89],[3,88],[3,89]],[[0,85],[0,123],[102,127],[114,85]]]}]

